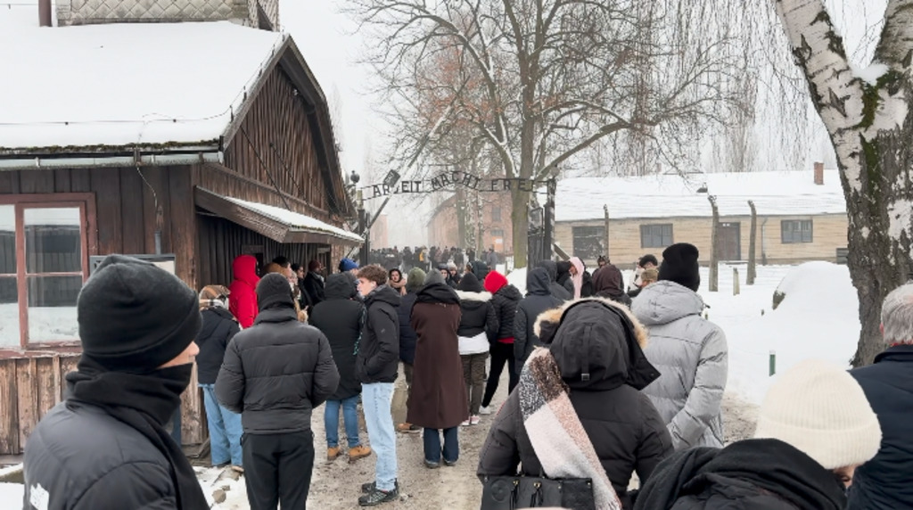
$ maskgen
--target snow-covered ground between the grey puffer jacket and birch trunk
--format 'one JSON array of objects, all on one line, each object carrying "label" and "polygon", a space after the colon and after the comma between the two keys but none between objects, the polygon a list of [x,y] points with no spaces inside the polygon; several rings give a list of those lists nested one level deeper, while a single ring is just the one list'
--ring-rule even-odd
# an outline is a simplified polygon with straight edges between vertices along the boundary
[{"label": "snow-covered ground between the grey puffer jacket and birch trunk", "polygon": [[[773,380],[768,375],[771,351],[776,353],[777,373],[808,358],[850,367],[860,323],[845,265],[759,266],[754,286],[745,285],[747,266],[735,265],[740,296],[732,296],[732,267],[720,265],[715,293],[707,291],[708,270],[701,268],[699,289],[710,306],[708,318],[723,328],[729,342],[729,393],[760,404]],[[781,281],[786,297],[773,310],[773,292]]]}]

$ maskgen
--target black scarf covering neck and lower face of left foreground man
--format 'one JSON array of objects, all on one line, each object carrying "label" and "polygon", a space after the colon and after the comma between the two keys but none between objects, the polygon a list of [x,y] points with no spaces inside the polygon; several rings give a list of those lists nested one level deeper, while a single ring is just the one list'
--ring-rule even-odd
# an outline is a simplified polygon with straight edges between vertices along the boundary
[{"label": "black scarf covering neck and lower face of left foreground man", "polygon": [[142,433],[168,459],[178,508],[182,510],[209,508],[194,468],[163,427],[181,407],[181,393],[190,384],[193,371],[193,363],[188,363],[144,373],[114,372],[83,354],[78,371],[67,374],[68,407],[99,407]]}]

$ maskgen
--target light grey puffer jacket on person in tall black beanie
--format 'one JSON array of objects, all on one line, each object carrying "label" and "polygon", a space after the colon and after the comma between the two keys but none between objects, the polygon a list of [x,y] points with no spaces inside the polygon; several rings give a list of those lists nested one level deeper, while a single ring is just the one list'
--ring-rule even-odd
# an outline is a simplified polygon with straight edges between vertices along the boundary
[{"label": "light grey puffer jacket on person in tall black beanie", "polygon": [[650,335],[646,359],[659,379],[644,389],[666,421],[676,450],[723,446],[720,401],[726,388],[726,335],[700,316],[704,301],[670,281],[645,287],[631,311]]}]

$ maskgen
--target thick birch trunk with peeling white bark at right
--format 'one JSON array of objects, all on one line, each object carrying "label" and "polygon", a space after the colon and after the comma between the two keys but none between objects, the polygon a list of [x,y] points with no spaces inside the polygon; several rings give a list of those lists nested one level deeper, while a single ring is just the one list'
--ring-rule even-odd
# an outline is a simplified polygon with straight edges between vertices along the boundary
[{"label": "thick birch trunk with peeling white bark at right", "polygon": [[837,154],[849,218],[848,265],[862,322],[853,364],[866,365],[883,349],[881,303],[911,269],[913,0],[888,3],[866,79],[850,68],[824,0],[773,3]]}]

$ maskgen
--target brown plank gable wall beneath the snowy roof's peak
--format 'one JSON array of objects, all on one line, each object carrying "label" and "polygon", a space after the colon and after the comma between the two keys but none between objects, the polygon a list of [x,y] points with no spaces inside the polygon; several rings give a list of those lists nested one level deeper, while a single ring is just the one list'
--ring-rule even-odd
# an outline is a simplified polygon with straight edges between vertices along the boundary
[{"label": "brown plank gable wall beneath the snowy roof's peak", "polygon": [[270,185],[275,181],[282,192],[324,212],[329,209],[329,188],[320,173],[304,101],[280,68],[271,71],[229,141],[225,161],[247,178]]}]

